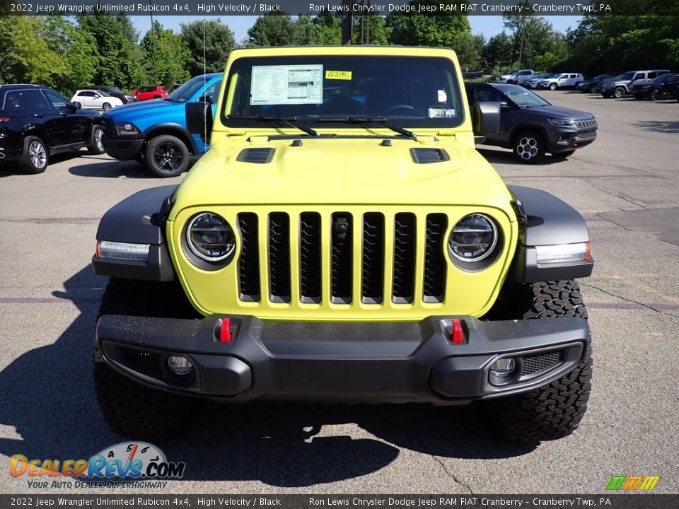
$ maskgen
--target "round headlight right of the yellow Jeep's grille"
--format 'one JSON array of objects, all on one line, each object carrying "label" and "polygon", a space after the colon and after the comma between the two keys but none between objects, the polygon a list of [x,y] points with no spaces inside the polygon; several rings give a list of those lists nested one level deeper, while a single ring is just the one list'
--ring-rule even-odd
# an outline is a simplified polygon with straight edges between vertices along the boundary
[{"label": "round headlight right of the yellow Jeep's grille", "polygon": [[483,214],[473,213],[453,226],[448,250],[461,262],[479,262],[493,252],[496,244],[495,223]]}]

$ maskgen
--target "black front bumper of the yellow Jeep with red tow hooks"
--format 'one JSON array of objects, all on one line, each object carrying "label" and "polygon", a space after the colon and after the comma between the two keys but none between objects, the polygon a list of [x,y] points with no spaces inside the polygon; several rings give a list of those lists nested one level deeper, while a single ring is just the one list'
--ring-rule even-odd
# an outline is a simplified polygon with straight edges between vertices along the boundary
[{"label": "black front bumper of the yellow Jeep with red tow hooks", "polygon": [[[177,320],[103,315],[95,360],[141,384],[246,402],[431,402],[464,404],[526,392],[581,361],[589,341],[580,318],[482,322],[457,317],[465,342],[450,341],[453,317],[421,322],[334,323],[231,317],[233,341],[219,341],[221,317]],[[189,358],[177,375],[168,357]],[[490,366],[516,361],[499,380]],[[492,381],[494,383],[492,383]]]}]

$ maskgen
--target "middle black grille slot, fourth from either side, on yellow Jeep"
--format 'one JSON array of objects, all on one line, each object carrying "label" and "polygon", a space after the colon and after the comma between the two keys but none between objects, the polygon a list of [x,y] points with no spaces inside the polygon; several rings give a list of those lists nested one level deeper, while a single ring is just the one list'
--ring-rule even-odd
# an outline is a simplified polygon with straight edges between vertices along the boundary
[{"label": "middle black grille slot, fourth from either side, on yellow Jeep", "polygon": [[333,303],[352,303],[352,215],[348,212],[332,214],[330,300]]}]

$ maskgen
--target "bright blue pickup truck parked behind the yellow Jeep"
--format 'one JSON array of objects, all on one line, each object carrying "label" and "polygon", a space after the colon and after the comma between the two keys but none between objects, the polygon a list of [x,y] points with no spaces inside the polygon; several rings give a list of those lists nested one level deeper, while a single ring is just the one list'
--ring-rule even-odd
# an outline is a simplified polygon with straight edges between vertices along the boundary
[{"label": "bright blue pickup truck parked behind the yellow Jeep", "polygon": [[188,168],[192,157],[209,145],[186,128],[185,103],[207,101],[215,114],[224,74],[196,76],[156,99],[111,108],[102,115],[103,142],[109,156],[138,160],[159,177],[175,177]]}]

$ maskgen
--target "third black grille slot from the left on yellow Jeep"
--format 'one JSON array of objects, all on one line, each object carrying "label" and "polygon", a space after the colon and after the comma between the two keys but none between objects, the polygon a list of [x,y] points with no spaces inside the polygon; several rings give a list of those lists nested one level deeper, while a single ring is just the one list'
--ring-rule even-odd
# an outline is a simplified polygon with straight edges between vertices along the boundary
[{"label": "third black grille slot from the left on yellow Jeep", "polygon": [[304,212],[299,218],[299,297],[303,303],[320,303],[320,214]]}]

